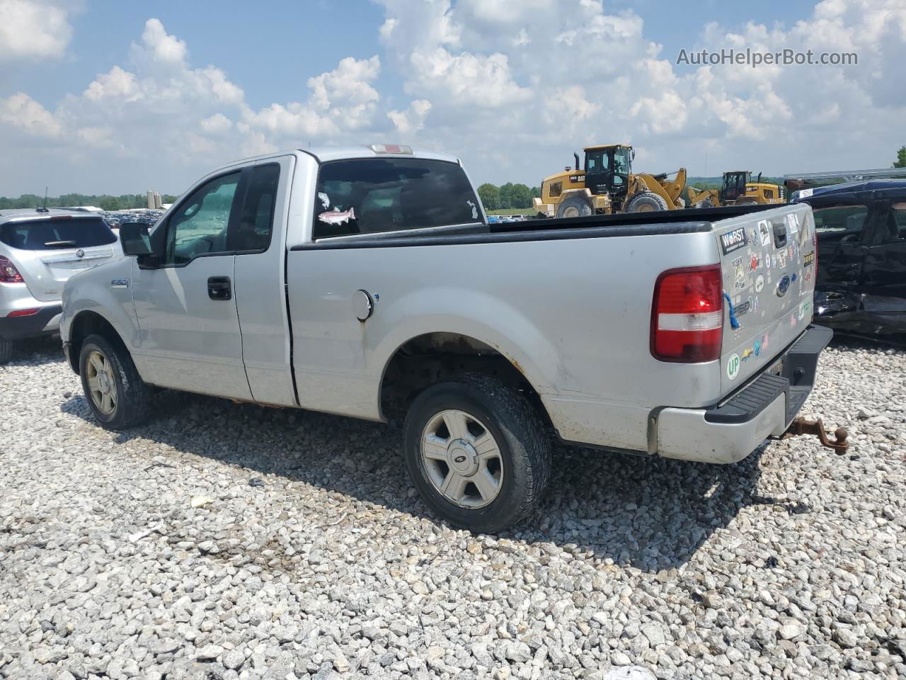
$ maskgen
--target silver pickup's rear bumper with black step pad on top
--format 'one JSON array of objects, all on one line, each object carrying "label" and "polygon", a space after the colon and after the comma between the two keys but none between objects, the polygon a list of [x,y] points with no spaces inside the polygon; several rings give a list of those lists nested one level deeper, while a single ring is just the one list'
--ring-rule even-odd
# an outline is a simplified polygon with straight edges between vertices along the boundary
[{"label": "silver pickup's rear bumper with black step pad on top", "polygon": [[809,326],[781,355],[779,375],[757,376],[726,403],[709,409],[661,410],[656,424],[658,453],[686,461],[737,462],[767,437],[783,434],[812,392],[818,357],[833,336],[830,328]]}]

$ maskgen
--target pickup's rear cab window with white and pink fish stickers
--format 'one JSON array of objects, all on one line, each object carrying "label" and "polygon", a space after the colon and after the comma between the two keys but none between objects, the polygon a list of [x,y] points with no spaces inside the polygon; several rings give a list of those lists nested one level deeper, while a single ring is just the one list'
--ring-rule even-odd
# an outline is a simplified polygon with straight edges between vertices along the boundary
[{"label": "pickup's rear cab window with white and pink fish stickers", "polygon": [[318,173],[314,238],[475,224],[479,203],[457,163],[418,158],[333,160]]}]

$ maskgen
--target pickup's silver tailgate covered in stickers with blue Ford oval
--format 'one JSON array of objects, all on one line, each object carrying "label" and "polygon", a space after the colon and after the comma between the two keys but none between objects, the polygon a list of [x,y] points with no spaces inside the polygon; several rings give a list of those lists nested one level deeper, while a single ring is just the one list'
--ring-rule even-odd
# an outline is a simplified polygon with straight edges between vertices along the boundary
[{"label": "pickup's silver tailgate covered in stickers with blue Ford oval", "polygon": [[811,323],[814,219],[811,208],[797,204],[714,227],[725,294],[720,386],[726,395],[775,368],[776,356]]}]

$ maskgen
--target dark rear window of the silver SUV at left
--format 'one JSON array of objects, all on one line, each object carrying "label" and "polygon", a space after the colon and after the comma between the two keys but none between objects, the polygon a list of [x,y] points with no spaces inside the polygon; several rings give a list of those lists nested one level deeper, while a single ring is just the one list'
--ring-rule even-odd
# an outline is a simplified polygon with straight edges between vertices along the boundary
[{"label": "dark rear window of the silver SUV at left", "polygon": [[109,246],[116,236],[100,217],[60,217],[6,222],[0,241],[20,250],[59,250]]}]

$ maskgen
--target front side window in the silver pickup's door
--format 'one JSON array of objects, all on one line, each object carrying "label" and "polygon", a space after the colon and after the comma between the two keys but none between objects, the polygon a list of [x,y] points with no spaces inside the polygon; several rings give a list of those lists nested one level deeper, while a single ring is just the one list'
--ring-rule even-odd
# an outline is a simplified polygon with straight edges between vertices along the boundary
[{"label": "front side window in the silver pickup's door", "polygon": [[164,264],[185,265],[196,257],[229,252],[226,232],[239,172],[221,175],[196,189],[169,219]]}]

